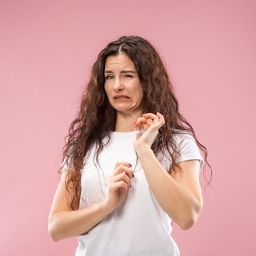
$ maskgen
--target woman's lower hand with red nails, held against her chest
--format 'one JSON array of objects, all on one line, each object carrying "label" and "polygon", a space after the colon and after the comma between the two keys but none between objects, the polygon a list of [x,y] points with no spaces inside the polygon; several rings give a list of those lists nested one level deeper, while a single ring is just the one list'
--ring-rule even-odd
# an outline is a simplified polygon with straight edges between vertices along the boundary
[{"label": "woman's lower hand with red nails, held against her chest", "polygon": [[131,178],[134,178],[133,170],[129,162],[116,162],[114,172],[109,178],[106,205],[112,210],[124,202],[128,190],[131,187]]}]

